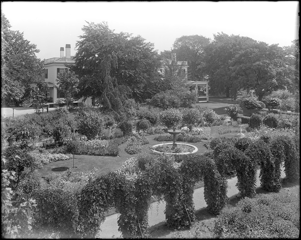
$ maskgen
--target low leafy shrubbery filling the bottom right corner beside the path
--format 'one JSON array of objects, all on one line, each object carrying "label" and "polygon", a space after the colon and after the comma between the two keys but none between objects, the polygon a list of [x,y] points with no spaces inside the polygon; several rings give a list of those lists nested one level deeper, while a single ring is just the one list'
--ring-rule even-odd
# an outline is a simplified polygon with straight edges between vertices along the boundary
[{"label": "low leafy shrubbery filling the bottom right corner beside the path", "polygon": [[296,187],[242,199],[222,210],[214,233],[219,238],[298,238],[299,201]]}]

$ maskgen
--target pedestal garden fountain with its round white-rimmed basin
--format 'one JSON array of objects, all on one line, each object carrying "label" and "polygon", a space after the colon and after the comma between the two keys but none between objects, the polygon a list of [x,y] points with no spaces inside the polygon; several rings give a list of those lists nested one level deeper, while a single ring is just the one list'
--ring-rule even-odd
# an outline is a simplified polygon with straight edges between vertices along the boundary
[{"label": "pedestal garden fountain with its round white-rimmed basin", "polygon": [[[173,143],[161,143],[161,144],[157,144],[154,145],[152,148],[152,152],[158,153],[158,154],[171,154],[171,155],[188,155],[188,154],[193,154],[195,152],[197,152],[197,147],[191,144],[187,144],[187,143],[176,143],[176,135],[180,134],[182,131],[181,130],[176,130],[175,126],[172,126],[172,129],[170,128],[167,131],[169,134],[171,134],[173,136],[172,138],[172,142]],[[175,150],[175,152],[167,152],[167,151],[163,151],[163,149],[168,149],[168,146],[172,145],[170,150]],[[178,145],[180,147],[178,147]],[[166,146],[166,148],[165,148]],[[176,151],[177,149],[179,149],[178,151]],[[181,149],[184,149],[184,151],[181,151]],[[186,151],[185,151],[186,150]]]}]

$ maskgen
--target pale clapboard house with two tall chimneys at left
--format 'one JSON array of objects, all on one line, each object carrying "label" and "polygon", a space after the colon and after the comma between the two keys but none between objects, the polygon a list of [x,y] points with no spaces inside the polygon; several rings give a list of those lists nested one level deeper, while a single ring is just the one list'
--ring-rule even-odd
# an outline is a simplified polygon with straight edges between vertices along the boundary
[{"label": "pale clapboard house with two tall chimneys at left", "polygon": [[[57,100],[64,100],[64,94],[60,93],[54,85],[57,85],[57,74],[60,72],[66,71],[67,67],[65,64],[73,65],[75,64],[74,56],[71,56],[71,46],[70,44],[66,44],[66,55],[64,53],[64,47],[60,49],[60,57],[59,58],[48,58],[44,59],[44,68],[45,68],[45,82],[48,84],[48,92],[50,100],[47,102],[48,107],[55,107],[54,104]],[[31,87],[36,88],[36,84],[30,84]],[[28,101],[23,103],[23,107],[30,107],[33,99],[29,99]],[[82,101],[79,99],[78,101],[74,101],[73,104],[80,105],[92,105],[92,99],[87,98],[86,101]]]}]

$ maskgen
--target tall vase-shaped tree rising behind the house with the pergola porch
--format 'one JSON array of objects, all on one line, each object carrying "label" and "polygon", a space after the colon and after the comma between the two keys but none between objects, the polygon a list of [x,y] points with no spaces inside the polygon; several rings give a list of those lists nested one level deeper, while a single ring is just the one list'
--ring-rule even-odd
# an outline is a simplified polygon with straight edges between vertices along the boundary
[{"label": "tall vase-shaped tree rising behind the house with the pergola porch", "polygon": [[189,74],[191,81],[202,78],[201,68],[203,62],[203,53],[205,47],[209,44],[210,39],[201,35],[190,35],[176,38],[173,47],[181,55],[183,61],[188,61]]}]

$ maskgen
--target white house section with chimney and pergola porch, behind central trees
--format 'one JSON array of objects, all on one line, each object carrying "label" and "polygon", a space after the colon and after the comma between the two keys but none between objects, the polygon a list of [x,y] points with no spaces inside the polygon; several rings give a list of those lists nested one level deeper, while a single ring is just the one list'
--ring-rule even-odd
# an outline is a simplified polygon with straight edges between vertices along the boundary
[{"label": "white house section with chimney and pergola porch, behind central trees", "polygon": [[[185,74],[185,78],[188,79],[187,70],[189,66],[187,64],[187,61],[177,61],[176,53],[172,53],[172,59],[163,58],[163,60],[160,60],[161,67],[160,70],[158,70],[158,72],[164,76],[164,73],[167,69],[167,64],[171,64],[173,60],[176,62],[177,65],[182,66],[182,71]],[[187,81],[187,85],[190,91],[196,91],[198,103],[209,101],[207,81]]]}]

